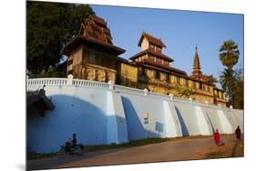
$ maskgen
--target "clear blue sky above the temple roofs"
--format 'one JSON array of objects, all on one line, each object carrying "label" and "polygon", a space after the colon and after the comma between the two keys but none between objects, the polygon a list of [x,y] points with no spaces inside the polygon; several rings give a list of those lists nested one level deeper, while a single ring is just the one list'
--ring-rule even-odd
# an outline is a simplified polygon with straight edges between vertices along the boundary
[{"label": "clear blue sky above the temple roofs", "polygon": [[[219,79],[220,45],[233,40],[239,45],[240,59],[234,68],[243,67],[243,15],[191,12],[179,10],[91,5],[96,15],[108,22],[112,42],[129,58],[140,52],[138,40],[143,31],[161,38],[167,46],[163,54],[173,67],[191,74],[195,46],[198,46],[201,71]],[[220,85],[218,85],[220,86]]]}]

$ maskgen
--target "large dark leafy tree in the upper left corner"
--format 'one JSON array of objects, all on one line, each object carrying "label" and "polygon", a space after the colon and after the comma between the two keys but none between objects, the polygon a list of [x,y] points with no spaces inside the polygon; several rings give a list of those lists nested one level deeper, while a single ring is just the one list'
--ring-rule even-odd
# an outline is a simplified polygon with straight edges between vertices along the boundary
[{"label": "large dark leafy tree in the upper left corner", "polygon": [[27,2],[27,69],[38,74],[62,58],[61,49],[77,35],[80,24],[94,14],[89,5]]}]

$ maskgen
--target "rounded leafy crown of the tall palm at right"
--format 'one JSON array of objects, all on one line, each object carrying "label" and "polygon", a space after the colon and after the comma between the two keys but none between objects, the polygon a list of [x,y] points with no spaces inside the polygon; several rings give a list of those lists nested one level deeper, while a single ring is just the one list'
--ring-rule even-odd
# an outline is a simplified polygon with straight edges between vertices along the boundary
[{"label": "rounded leafy crown of the tall palm at right", "polygon": [[238,45],[232,40],[225,41],[220,46],[220,61],[229,70],[232,69],[233,65],[238,63],[239,55]]}]

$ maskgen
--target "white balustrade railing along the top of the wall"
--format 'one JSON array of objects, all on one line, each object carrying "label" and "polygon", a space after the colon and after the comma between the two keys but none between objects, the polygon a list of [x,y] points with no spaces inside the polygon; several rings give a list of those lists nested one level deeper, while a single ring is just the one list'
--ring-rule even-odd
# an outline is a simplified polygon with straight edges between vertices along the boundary
[{"label": "white balustrade railing along the top of the wall", "polygon": [[[113,90],[115,92],[127,93],[132,95],[138,96],[148,96],[159,98],[162,100],[170,100],[179,103],[189,103],[190,105],[197,105],[197,106],[206,106],[211,108],[221,108],[225,110],[230,110],[230,107],[226,106],[216,106],[210,105],[208,103],[196,102],[192,99],[185,99],[177,96],[172,95],[162,95],[158,93],[148,92],[147,89],[141,90],[137,88],[131,88],[128,86],[122,85],[114,85],[113,82],[109,81],[108,83],[97,82],[97,81],[90,81],[90,80],[82,80],[82,79],[73,79],[73,75],[68,75],[67,78],[27,78],[26,79],[26,86],[34,86],[37,85],[38,87],[43,87],[43,85],[75,85],[75,86],[88,86],[88,87],[96,87],[96,88],[103,88]],[[235,109],[232,109],[235,110]]]}]

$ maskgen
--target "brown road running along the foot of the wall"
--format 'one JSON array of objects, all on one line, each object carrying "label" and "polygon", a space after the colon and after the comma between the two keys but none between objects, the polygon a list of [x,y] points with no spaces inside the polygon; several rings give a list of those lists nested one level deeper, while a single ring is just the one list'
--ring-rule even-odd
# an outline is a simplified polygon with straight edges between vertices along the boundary
[{"label": "brown road running along the foot of the wall", "polygon": [[[224,136],[224,142],[234,141],[234,136]],[[196,152],[215,146],[212,137],[185,138],[147,146],[136,146],[88,152],[84,156],[46,158],[29,161],[28,169],[63,168],[77,166],[109,166],[120,164],[151,163],[163,161],[201,159]]]}]

